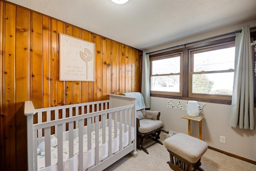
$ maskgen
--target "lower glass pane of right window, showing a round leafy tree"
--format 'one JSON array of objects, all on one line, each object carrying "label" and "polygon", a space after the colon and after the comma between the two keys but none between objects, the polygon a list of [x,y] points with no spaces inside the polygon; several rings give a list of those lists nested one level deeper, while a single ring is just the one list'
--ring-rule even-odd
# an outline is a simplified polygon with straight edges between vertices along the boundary
[{"label": "lower glass pane of right window, showing a round leafy tree", "polygon": [[234,72],[193,74],[192,93],[232,95]]}]

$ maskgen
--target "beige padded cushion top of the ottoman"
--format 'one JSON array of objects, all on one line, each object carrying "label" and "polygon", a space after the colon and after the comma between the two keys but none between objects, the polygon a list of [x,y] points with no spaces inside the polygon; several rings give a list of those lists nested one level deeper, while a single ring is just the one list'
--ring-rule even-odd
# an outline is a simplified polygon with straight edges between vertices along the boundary
[{"label": "beige padded cushion top of the ottoman", "polygon": [[206,152],[208,144],[184,133],[177,133],[164,141],[164,147],[187,161],[196,163]]}]

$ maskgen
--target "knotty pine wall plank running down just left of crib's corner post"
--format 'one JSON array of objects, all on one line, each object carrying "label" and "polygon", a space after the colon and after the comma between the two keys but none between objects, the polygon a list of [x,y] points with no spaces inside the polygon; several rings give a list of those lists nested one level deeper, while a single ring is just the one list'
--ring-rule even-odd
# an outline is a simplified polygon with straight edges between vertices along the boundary
[{"label": "knotty pine wall plank running down just left of crib's corner post", "polygon": [[[16,85],[16,139],[26,142],[26,116],[24,116],[24,101],[28,100],[29,87],[29,41],[28,24],[30,12],[23,8],[16,8],[16,55],[15,55],[15,85]],[[16,143],[16,154],[26,154],[27,147],[24,143]],[[25,157],[16,155],[16,169],[24,167],[27,162]]]}]

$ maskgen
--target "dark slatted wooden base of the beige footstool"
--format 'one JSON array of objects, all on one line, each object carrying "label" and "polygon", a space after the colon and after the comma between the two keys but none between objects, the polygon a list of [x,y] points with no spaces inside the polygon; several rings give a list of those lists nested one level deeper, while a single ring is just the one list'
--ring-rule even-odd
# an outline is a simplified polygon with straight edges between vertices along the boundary
[{"label": "dark slatted wooden base of the beige footstool", "polygon": [[173,153],[172,151],[168,150],[168,152],[170,153],[170,161],[168,161],[167,163],[174,171],[204,171],[204,169],[200,167],[202,164],[201,158],[196,163],[190,163],[189,161]]}]

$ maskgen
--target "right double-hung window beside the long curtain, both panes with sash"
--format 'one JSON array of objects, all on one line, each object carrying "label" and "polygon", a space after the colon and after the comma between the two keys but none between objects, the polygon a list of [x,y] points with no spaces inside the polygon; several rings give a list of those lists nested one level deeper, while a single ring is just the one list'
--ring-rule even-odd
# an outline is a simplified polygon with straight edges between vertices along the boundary
[{"label": "right double-hung window beside the long curtain, both panes with sash", "polygon": [[219,44],[190,50],[189,96],[211,99],[232,98],[234,44]]}]

